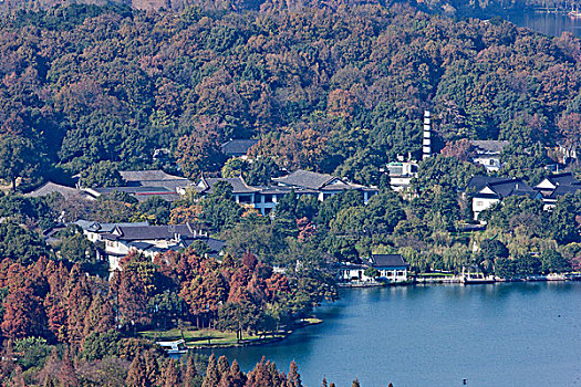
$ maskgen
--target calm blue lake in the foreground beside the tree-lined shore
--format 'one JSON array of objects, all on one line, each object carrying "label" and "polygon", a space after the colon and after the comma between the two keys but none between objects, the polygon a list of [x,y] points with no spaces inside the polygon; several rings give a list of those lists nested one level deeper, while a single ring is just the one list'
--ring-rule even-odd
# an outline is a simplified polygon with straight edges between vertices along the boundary
[{"label": "calm blue lake in the foreground beside the tree-lined shore", "polygon": [[280,343],[217,351],[249,370],[262,356],[303,384],[350,387],[581,386],[581,283],[354,289],[320,325]]}]

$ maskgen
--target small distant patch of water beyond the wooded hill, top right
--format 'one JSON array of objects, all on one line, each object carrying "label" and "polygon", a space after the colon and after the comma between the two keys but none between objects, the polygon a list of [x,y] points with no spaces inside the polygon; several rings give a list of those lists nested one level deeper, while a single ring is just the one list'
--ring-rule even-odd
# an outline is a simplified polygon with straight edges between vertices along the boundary
[{"label": "small distant patch of water beyond the wooded hill, top right", "polygon": [[546,35],[560,36],[569,31],[581,36],[581,19],[562,13],[539,13],[533,11],[515,12],[506,18],[512,23],[527,27]]}]

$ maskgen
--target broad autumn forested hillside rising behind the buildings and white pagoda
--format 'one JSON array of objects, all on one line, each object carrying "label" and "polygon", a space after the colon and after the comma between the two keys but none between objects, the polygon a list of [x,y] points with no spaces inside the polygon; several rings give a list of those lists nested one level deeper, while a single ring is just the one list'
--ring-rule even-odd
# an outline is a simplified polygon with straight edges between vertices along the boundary
[{"label": "broad autumn forested hillside rising behind the buildings and white pagoda", "polygon": [[277,9],[3,18],[0,159],[19,163],[3,177],[56,179],[100,160],[151,168],[157,148],[196,176],[220,168],[222,142],[255,137],[282,167],[374,184],[383,163],[417,155],[424,108],[442,139],[509,139],[530,168],[544,160],[538,144],[577,142],[570,35],[400,6]]}]

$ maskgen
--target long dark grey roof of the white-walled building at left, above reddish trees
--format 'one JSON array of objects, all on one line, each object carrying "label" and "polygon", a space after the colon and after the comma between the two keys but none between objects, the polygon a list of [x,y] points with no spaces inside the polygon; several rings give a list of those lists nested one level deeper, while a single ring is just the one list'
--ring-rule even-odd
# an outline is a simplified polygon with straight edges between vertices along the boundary
[{"label": "long dark grey roof of the white-walled building at left, above reddish trees", "polygon": [[181,239],[196,238],[195,230],[189,224],[165,224],[165,226],[142,226],[142,227],[116,227],[108,239],[113,240],[156,240],[172,239],[179,234]]}]

